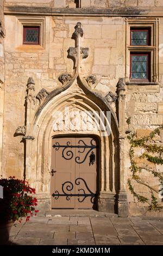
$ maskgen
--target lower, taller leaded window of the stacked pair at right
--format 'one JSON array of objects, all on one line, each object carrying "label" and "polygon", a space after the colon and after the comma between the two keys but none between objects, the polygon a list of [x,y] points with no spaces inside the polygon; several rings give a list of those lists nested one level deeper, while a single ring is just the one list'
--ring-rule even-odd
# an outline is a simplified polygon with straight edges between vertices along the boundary
[{"label": "lower, taller leaded window of the stacked pair at right", "polygon": [[149,54],[130,54],[130,78],[133,80],[148,80]]}]

